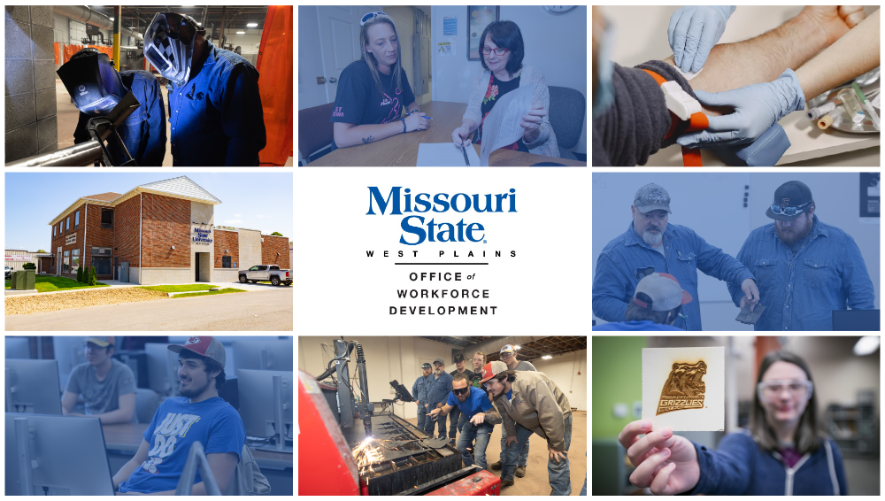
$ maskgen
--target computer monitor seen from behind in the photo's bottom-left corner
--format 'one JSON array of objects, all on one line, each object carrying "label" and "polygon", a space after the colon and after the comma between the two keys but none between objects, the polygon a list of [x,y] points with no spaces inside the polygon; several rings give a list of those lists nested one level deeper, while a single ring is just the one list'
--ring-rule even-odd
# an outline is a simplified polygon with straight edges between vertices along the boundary
[{"label": "computer monitor seen from behind in the photo's bottom-left corner", "polygon": [[114,495],[98,418],[7,412],[5,471],[6,496]]}]

